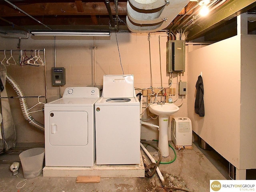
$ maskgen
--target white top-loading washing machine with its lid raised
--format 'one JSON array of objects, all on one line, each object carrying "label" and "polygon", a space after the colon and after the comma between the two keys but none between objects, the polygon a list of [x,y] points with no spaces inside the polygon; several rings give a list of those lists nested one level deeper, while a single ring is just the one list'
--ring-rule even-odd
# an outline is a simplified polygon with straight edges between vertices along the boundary
[{"label": "white top-loading washing machine with its lid raised", "polygon": [[96,164],[140,163],[140,102],[133,75],[105,75],[95,103]]}]

